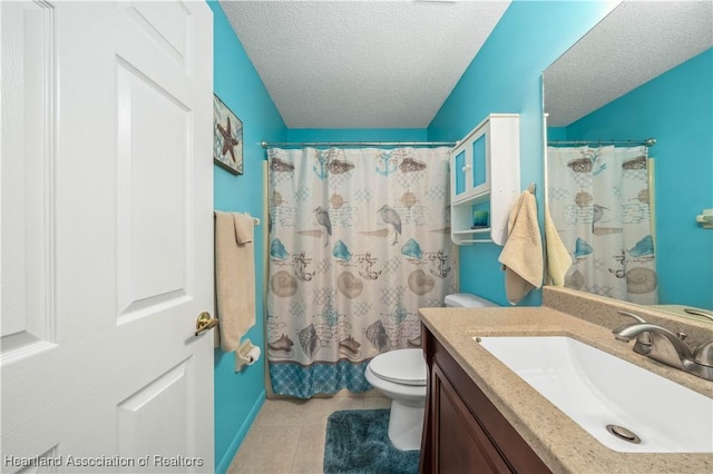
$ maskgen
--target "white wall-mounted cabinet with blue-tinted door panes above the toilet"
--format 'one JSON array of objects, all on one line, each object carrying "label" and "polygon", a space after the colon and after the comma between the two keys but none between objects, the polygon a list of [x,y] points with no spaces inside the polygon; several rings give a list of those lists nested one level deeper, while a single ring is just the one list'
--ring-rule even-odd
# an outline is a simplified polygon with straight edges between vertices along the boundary
[{"label": "white wall-mounted cabinet with blue-tinted door panes above the toilet", "polygon": [[486,117],[452,149],[450,169],[453,243],[504,245],[520,194],[520,116]]}]

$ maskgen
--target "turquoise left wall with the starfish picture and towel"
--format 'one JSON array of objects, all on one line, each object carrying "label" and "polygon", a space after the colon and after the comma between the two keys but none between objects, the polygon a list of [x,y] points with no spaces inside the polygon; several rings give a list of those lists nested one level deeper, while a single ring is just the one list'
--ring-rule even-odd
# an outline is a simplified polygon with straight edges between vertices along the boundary
[{"label": "turquoise left wall with the starfish picture and towel", "polygon": [[[217,2],[208,1],[214,28],[214,91],[243,121],[243,175],[214,166],[214,206],[227,211],[263,216],[263,162],[261,140],[283,141],[286,127],[272,99],[233,32]],[[256,319],[247,333],[265,347],[263,335],[264,263],[263,224],[255,229]],[[215,349],[215,466],[225,472],[265,399],[263,364],[235,373],[234,354]]]}]

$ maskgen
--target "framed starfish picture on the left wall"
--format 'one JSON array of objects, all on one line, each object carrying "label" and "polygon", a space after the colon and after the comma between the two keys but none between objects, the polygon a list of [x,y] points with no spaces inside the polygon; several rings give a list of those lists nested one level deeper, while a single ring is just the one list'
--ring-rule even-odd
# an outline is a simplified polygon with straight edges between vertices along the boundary
[{"label": "framed starfish picture on the left wall", "polygon": [[213,95],[213,160],[235,175],[243,174],[243,122]]}]

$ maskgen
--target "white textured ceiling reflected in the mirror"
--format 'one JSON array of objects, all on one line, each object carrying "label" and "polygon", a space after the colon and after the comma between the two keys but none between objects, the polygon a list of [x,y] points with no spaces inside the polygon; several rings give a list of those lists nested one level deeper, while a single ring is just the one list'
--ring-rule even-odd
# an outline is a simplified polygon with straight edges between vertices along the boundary
[{"label": "white textured ceiling reflected in the mirror", "polygon": [[621,3],[545,71],[547,125],[563,127],[713,47],[713,2]]}]

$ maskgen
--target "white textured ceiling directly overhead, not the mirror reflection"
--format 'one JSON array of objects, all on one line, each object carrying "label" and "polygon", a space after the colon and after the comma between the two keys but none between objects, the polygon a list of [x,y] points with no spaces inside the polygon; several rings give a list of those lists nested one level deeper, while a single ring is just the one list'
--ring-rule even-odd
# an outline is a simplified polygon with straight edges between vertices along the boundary
[{"label": "white textured ceiling directly overhead, not the mirror reflection", "polygon": [[290,128],[426,128],[507,1],[221,1]]}]

